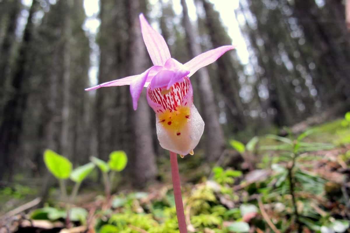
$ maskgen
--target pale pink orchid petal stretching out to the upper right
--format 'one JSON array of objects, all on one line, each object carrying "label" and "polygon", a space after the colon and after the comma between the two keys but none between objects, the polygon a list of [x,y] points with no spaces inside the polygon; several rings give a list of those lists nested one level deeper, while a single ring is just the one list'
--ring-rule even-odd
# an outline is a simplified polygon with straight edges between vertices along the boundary
[{"label": "pale pink orchid petal stretching out to the upper right", "polygon": [[199,54],[198,56],[194,57],[193,59],[184,64],[184,66],[186,66],[186,68],[190,70],[190,74],[188,75],[188,77],[191,77],[197,70],[213,63],[225,52],[234,48],[235,46],[233,45],[221,46],[219,48],[209,50],[205,53]]}]

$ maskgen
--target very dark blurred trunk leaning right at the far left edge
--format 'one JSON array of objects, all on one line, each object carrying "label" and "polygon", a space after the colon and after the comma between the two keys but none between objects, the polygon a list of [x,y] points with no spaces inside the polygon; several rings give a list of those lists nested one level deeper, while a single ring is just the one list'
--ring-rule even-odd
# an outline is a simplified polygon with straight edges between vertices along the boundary
[{"label": "very dark blurred trunk leaning right at the far left edge", "polygon": [[[0,125],[0,154],[3,156],[0,162],[0,180],[3,174],[9,171],[9,179],[12,179],[13,166],[16,162],[16,150],[22,130],[23,113],[26,109],[28,79],[30,72],[28,67],[28,57],[30,43],[33,38],[33,16],[38,6],[38,1],[34,0],[28,15],[27,24],[23,33],[23,40],[19,48],[19,56],[14,64],[13,78],[11,85],[14,94],[10,97],[3,108],[2,122]],[[6,114],[5,114],[6,113]]]}]

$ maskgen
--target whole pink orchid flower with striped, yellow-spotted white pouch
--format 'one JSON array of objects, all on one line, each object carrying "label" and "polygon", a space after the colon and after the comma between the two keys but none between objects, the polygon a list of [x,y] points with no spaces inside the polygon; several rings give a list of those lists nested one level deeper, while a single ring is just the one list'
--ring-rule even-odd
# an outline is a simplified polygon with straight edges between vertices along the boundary
[{"label": "whole pink orchid flower with striped, yellow-spotted white pouch", "polygon": [[156,114],[156,128],[160,145],[181,157],[193,154],[204,131],[204,122],[193,104],[193,89],[190,77],[207,66],[232,45],[222,46],[202,53],[185,64],[170,56],[164,38],[155,31],[140,14],[142,37],[153,66],[138,75],[105,82],[85,90],[100,87],[130,85],[134,110],[142,89],[147,87],[147,102]]}]

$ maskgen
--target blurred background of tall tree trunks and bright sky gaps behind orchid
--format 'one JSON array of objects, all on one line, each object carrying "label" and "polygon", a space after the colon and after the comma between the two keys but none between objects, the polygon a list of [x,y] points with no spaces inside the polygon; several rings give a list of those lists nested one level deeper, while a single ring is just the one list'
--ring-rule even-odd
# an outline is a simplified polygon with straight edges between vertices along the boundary
[{"label": "blurred background of tall tree trunks and bright sky gaps behind orchid", "polygon": [[[47,198],[57,186],[43,161],[47,148],[73,167],[125,151],[128,165],[118,179],[126,189],[169,181],[169,155],[145,98],[134,111],[128,87],[84,91],[151,65],[135,33],[141,12],[182,63],[196,55],[194,47],[237,45],[191,78],[205,130],[195,155],[180,161],[188,182],[209,176],[218,161],[254,170],[258,156],[232,150],[231,139],[297,135],[350,110],[345,1],[93,2],[0,0],[1,188],[28,185]],[[223,2],[231,15],[221,16]],[[135,43],[142,47],[136,57]],[[96,171],[84,187],[98,190],[92,180],[100,179]]]}]

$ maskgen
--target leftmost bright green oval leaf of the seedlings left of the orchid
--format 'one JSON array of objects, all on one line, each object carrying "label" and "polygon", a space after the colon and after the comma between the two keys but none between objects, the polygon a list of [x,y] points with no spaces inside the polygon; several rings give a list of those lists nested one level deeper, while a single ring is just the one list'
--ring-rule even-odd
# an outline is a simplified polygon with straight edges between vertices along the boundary
[{"label": "leftmost bright green oval leaf of the seedlings left of the orchid", "polygon": [[72,163],[62,155],[51,150],[45,150],[44,162],[49,171],[57,179],[68,179],[72,171]]}]

